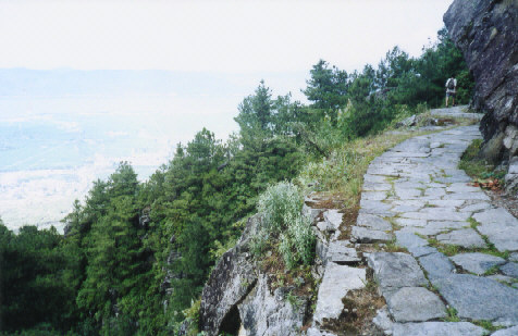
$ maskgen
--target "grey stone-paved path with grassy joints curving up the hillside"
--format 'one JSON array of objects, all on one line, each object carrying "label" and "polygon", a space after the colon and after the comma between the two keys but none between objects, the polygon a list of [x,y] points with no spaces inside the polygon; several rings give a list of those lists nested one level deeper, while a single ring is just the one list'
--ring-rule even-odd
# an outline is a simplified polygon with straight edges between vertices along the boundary
[{"label": "grey stone-paved path with grassy joints curving up the hillside", "polygon": [[[320,246],[324,259],[337,244],[342,254],[353,259],[356,251],[346,250],[353,244],[395,241],[408,251],[366,254],[387,303],[374,319],[386,335],[491,334],[471,323],[478,321],[506,327],[493,335],[518,335],[518,220],[494,208],[457,169],[461,153],[477,138],[473,125],[399,144],[370,164],[350,241],[333,239],[336,223],[326,226],[333,229],[329,245]],[[308,335],[333,335],[319,327],[341,313],[340,307],[331,311],[320,303],[321,294],[342,278],[347,284],[332,294],[342,298],[358,287],[354,276],[365,279],[365,273],[356,274],[345,262],[340,272],[340,264],[328,269]]]}]

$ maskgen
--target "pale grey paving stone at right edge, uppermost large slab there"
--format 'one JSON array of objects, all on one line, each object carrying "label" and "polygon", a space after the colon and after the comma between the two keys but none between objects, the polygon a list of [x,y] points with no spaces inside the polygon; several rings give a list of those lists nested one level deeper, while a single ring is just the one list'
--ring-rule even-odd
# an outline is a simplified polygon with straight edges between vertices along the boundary
[{"label": "pale grey paving stone at right edge, uppermost large slab there", "polygon": [[507,210],[497,208],[473,214],[480,223],[477,229],[488,236],[498,251],[518,250],[518,220]]}]

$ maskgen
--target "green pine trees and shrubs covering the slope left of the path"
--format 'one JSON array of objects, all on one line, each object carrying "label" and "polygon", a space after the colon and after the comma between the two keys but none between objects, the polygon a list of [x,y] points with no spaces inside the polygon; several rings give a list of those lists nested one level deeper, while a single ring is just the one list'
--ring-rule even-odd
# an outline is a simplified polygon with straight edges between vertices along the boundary
[{"label": "green pine trees and shrubs covering the slope left of the path", "polygon": [[472,78],[446,32],[439,34],[420,58],[396,47],[378,69],[350,75],[320,60],[303,90],[309,107],[291,95],[272,98],[261,82],[238,107],[238,134],[222,142],[203,128],[146,183],[122,162],[74,202],[64,236],[35,226],[13,234],[0,220],[0,328],[169,335],[185,318],[196,324],[195,300],[211,267],[256,209],[264,227],[251,253],[278,248],[287,269],[310,264],[314,236],[301,215],[303,191],[282,181],[303,171],[301,185],[318,182],[355,204],[370,161],[404,138],[378,133],[441,105],[452,74],[457,101],[466,102]]}]

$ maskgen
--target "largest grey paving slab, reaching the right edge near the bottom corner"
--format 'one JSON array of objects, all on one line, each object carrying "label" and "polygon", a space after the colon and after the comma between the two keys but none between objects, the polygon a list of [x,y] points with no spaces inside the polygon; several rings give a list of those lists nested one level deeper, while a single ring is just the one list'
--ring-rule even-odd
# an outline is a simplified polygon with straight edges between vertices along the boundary
[{"label": "largest grey paving slab, reaching the right edge near the bottom corner", "polygon": [[432,281],[460,319],[518,323],[518,290],[471,274],[452,274]]}]

